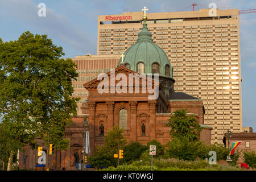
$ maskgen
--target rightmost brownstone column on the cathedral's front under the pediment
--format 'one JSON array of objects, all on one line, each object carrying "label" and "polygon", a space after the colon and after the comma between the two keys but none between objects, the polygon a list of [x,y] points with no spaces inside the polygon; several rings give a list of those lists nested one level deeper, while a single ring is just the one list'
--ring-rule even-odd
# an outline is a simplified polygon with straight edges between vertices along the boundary
[{"label": "rightmost brownstone column on the cathedral's front under the pediment", "polygon": [[148,127],[150,129],[150,140],[155,139],[156,136],[156,101],[148,101],[148,105],[150,107],[150,127]]}]

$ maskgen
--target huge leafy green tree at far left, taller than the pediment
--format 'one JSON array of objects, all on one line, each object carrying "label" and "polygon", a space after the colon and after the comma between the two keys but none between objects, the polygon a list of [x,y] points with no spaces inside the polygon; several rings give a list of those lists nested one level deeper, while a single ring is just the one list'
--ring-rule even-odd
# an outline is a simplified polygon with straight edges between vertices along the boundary
[{"label": "huge leafy green tree at far left, taller than the pediment", "polygon": [[[40,137],[55,144],[59,150],[68,148],[63,139],[64,129],[76,116],[76,102],[72,98],[72,79],[76,79],[76,65],[63,59],[63,48],[52,43],[47,35],[20,35],[18,40],[0,40],[0,113],[2,123],[15,147],[34,145]],[[8,168],[10,169],[10,167]]]}]

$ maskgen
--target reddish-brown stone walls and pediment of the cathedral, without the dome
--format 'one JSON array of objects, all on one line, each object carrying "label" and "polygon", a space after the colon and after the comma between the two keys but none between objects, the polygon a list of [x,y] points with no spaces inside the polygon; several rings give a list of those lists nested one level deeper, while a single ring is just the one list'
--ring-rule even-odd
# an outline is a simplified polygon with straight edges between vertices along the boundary
[{"label": "reddish-brown stone walls and pediment of the cathedral, without the dome", "polygon": [[[129,77],[129,73],[134,74],[136,72],[120,66],[115,68],[114,73],[115,76],[118,73],[122,73]],[[107,75],[110,80],[110,72]],[[185,93],[174,93],[171,100],[167,100],[162,93],[161,84],[159,84],[159,96],[154,100],[148,99],[148,96],[152,95],[152,93],[142,93],[142,86],[139,88],[139,93],[135,93],[135,86],[133,86],[133,93],[128,91],[127,93],[99,93],[97,88],[101,81],[95,78],[84,84],[85,89],[89,92],[88,101],[82,103],[82,114],[73,118],[73,124],[65,130],[65,138],[70,140],[70,148],[67,151],[55,150],[55,154],[49,156],[49,168],[55,170],[61,170],[63,167],[66,170],[76,169],[75,154],[77,151],[79,159],[82,159],[84,118],[88,121],[86,131],[89,131],[90,154],[93,154],[98,146],[104,144],[104,136],[101,135],[100,130],[101,124],[104,126],[104,134],[113,129],[113,126],[118,125],[120,127],[122,125],[124,129],[123,135],[129,141],[134,140],[146,144],[155,139],[162,144],[166,144],[171,140],[169,135],[170,128],[166,126],[170,113],[180,109],[187,109],[189,114],[195,115],[200,125],[204,127],[200,135],[201,141],[210,144],[212,127],[204,125],[204,105],[199,98]],[[142,85],[142,78],[140,78],[139,82]],[[151,82],[154,87],[155,81],[151,80]],[[118,81],[115,81],[115,86],[117,83]],[[125,118],[127,122],[124,123],[125,125],[120,123],[120,111],[122,109],[126,110]],[[142,130],[142,125],[144,130]],[[28,147],[26,149],[30,152],[26,167],[34,169],[38,161],[37,151],[32,151]],[[23,165],[23,152],[20,152],[19,156],[19,166],[20,168],[25,168]]]}]

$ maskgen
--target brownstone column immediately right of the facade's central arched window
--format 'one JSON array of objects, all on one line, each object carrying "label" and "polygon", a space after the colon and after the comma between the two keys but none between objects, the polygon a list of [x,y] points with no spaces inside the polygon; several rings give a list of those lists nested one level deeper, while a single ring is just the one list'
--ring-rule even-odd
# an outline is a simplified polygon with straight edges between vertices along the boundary
[{"label": "brownstone column immediately right of the facade's central arched window", "polygon": [[136,141],[137,137],[137,101],[130,101],[130,139]]}]

